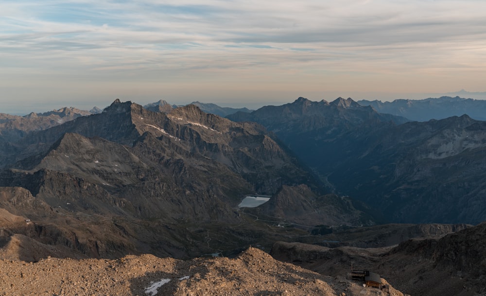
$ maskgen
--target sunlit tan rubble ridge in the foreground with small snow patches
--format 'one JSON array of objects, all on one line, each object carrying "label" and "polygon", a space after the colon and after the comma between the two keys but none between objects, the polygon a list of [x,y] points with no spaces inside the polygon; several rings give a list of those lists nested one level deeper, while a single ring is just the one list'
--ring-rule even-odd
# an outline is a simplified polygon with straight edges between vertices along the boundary
[{"label": "sunlit tan rubble ridge in the foreground with small snow patches", "polygon": [[[38,262],[0,261],[0,295],[309,295],[403,296],[363,287],[345,275],[323,276],[274,260],[256,248],[235,259],[180,261],[153,255],[117,260],[47,258]],[[386,283],[382,279],[383,283]]]}]

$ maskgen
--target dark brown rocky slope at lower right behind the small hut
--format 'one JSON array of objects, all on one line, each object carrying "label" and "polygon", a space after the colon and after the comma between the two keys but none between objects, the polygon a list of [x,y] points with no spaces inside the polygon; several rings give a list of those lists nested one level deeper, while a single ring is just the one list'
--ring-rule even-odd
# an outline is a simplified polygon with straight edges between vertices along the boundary
[{"label": "dark brown rocky slope at lower right behind the small hut", "polygon": [[[437,225],[417,227],[432,233],[451,229]],[[277,243],[271,255],[329,275],[346,273],[351,266],[371,270],[412,296],[484,295],[485,229],[483,223],[447,235],[406,240],[386,248]]]}]

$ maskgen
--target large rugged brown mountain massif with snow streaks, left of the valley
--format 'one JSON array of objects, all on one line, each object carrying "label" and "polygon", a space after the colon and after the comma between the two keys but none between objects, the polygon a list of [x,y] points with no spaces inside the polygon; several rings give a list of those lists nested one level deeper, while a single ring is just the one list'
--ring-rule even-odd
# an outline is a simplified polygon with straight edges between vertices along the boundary
[{"label": "large rugged brown mountain massif with snow streaks, left of the valley", "polygon": [[13,217],[3,240],[21,234],[71,256],[187,258],[308,234],[273,227],[303,223],[285,203],[264,213],[277,219],[270,227],[239,209],[246,194],[315,212],[307,227],[374,223],[352,201],[325,202],[336,197],[261,125],[195,105],[164,113],[116,100],[99,114],[12,134],[0,149],[0,208]]}]

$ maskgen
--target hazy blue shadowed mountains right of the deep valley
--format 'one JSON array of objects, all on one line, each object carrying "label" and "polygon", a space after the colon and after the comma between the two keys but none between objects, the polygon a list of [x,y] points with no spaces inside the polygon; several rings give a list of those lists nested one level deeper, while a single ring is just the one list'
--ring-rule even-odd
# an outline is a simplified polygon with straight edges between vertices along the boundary
[{"label": "hazy blue shadowed mountains right of the deep valley", "polygon": [[298,98],[227,118],[274,132],[333,192],[363,201],[380,221],[486,219],[486,122],[407,122],[342,98]]}]

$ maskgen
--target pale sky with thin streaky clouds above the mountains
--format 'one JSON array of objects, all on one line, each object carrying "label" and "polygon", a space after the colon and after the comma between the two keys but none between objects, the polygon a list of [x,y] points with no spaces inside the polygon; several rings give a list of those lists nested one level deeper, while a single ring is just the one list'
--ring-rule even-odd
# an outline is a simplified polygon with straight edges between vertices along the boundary
[{"label": "pale sky with thin streaky clouds above the mountains", "polygon": [[484,0],[1,0],[0,113],[485,92],[485,19]]}]

